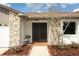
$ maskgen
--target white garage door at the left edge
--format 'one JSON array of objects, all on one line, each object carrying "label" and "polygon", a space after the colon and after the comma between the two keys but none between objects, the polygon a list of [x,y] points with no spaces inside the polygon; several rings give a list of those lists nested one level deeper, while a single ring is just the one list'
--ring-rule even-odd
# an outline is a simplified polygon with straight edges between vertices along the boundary
[{"label": "white garage door at the left edge", "polygon": [[9,47],[9,27],[0,26],[0,47]]}]

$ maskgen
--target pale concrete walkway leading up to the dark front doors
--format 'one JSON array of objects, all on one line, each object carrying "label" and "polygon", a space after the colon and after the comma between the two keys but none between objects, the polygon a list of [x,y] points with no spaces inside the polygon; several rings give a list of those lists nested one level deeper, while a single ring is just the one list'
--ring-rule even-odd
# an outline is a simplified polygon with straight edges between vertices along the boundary
[{"label": "pale concrete walkway leading up to the dark front doors", "polygon": [[30,56],[49,56],[47,46],[33,46]]}]

